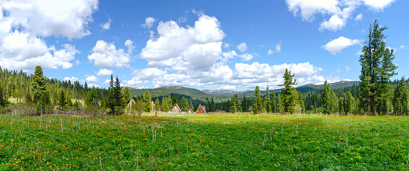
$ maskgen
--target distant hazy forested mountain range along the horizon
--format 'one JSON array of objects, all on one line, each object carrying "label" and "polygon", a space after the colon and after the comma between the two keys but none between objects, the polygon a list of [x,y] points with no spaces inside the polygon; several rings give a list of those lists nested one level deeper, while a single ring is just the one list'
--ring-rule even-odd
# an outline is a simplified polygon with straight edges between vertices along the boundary
[{"label": "distant hazy forested mountain range along the horizon", "polygon": [[[358,81],[340,81],[336,83],[331,83],[329,84],[329,87],[332,88],[344,88],[344,87],[350,87],[352,85],[358,85]],[[308,91],[319,91],[323,89],[323,85],[314,85],[314,84],[307,84],[307,85],[302,85],[299,87],[296,87],[297,90],[301,92],[308,92]],[[131,93],[131,96],[135,95],[141,95],[145,94],[146,90],[149,90],[152,99],[159,98],[162,100],[162,97],[168,96],[169,94],[171,96],[173,95],[179,95],[181,98],[184,96],[185,98],[189,99],[189,101],[205,101],[206,98],[211,99],[212,97],[215,99],[215,101],[224,101],[231,99],[231,97],[234,94],[237,94],[239,97],[242,97],[243,95],[247,97],[253,97],[254,95],[254,90],[244,90],[244,91],[235,91],[235,90],[198,90],[195,88],[189,88],[189,87],[183,87],[183,86],[163,86],[163,87],[157,87],[157,88],[151,88],[151,89],[136,89],[136,88],[131,88],[128,87],[129,91]],[[123,87],[124,89],[124,87]],[[275,92],[281,91],[282,89],[275,89]],[[265,93],[265,91],[261,91],[262,94]]]}]

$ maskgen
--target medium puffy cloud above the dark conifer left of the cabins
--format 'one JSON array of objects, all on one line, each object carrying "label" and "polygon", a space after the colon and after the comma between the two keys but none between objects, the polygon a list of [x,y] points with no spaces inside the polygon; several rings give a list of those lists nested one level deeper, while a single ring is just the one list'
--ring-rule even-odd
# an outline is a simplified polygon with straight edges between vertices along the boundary
[{"label": "medium puffy cloud above the dark conifer left of the cabins", "polygon": [[129,67],[130,57],[123,49],[118,49],[113,43],[98,40],[92,49],[92,54],[88,55],[88,60],[94,62],[99,67]]}]

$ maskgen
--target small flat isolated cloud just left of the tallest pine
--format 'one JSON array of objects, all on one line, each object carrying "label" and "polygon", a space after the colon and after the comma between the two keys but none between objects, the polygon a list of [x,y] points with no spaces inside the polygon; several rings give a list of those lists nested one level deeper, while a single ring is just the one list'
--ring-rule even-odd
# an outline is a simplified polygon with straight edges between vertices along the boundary
[{"label": "small flat isolated cloud just left of the tallest pine", "polygon": [[360,44],[362,40],[359,39],[349,39],[345,37],[338,37],[337,39],[332,39],[327,44],[321,46],[326,51],[330,52],[332,55],[342,52],[342,50],[348,46]]}]

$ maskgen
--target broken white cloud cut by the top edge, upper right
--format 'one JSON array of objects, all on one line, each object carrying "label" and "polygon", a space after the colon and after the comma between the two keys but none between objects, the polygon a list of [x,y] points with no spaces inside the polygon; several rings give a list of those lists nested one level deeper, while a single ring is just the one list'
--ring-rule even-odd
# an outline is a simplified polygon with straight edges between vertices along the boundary
[{"label": "broken white cloud cut by the top edge, upper right", "polygon": [[[331,16],[329,19],[324,19],[320,24],[320,31],[330,30],[338,31],[346,26],[347,20],[351,18],[355,9],[365,5],[370,9],[382,11],[383,8],[390,6],[394,0],[373,1],[373,0],[286,0],[288,11],[294,16],[301,16],[303,20],[313,21],[316,14],[321,14],[324,17]],[[358,14],[355,20],[362,19],[362,14]]]}]

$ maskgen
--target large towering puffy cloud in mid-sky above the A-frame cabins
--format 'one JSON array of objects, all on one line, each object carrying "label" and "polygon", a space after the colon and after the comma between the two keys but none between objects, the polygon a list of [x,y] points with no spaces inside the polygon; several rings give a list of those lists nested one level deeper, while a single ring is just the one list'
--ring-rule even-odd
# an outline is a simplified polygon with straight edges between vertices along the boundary
[{"label": "large towering puffy cloud in mid-sky above the A-frame cabins", "polygon": [[148,66],[171,66],[179,71],[195,67],[209,69],[221,58],[221,40],[225,34],[215,17],[201,15],[194,27],[186,28],[179,27],[175,21],[160,21],[157,34],[157,38],[150,37],[140,54]]}]

